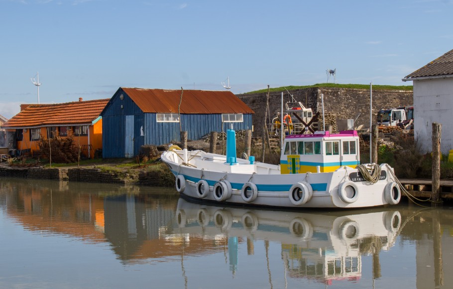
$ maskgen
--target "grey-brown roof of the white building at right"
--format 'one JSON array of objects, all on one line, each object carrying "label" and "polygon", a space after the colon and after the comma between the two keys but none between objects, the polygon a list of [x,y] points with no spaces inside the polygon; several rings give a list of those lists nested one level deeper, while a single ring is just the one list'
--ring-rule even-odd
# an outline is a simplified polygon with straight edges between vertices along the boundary
[{"label": "grey-brown roof of the white building at right", "polygon": [[417,77],[453,75],[453,50],[412,72],[403,80]]}]

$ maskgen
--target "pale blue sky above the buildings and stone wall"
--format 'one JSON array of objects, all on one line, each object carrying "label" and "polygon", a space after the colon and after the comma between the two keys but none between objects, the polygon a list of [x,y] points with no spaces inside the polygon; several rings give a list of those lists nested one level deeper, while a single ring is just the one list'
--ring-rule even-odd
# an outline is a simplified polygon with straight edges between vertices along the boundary
[{"label": "pale blue sky above the buildings and stone wall", "polygon": [[[119,87],[401,79],[453,49],[453,0],[0,0],[0,115]],[[330,82],[333,82],[331,77]]]}]

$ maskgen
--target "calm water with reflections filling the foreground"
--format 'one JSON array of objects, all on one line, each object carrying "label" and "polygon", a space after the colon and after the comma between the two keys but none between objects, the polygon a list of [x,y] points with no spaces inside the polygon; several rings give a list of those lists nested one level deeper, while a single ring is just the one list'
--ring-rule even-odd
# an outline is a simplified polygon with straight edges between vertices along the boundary
[{"label": "calm water with reflections filling the foreground", "polygon": [[453,209],[207,206],[0,178],[0,288],[452,288]]}]

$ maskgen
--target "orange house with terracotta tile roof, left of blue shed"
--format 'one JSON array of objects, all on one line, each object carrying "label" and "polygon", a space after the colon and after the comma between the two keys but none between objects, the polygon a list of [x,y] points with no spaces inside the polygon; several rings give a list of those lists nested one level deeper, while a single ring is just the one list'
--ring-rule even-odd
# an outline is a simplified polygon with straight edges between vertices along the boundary
[{"label": "orange house with terracotta tile roof, left of blue shed", "polygon": [[40,150],[38,141],[74,136],[74,144],[82,153],[94,157],[96,149],[102,148],[101,112],[109,99],[60,103],[21,105],[21,111],[4,123],[7,139],[12,139],[16,154]]}]

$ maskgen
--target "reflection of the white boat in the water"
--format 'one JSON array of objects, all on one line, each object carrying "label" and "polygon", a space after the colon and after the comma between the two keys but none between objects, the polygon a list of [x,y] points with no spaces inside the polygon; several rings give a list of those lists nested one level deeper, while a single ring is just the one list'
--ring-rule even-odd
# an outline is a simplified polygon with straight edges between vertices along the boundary
[{"label": "reflection of the white boat in the water", "polygon": [[[364,254],[373,255],[373,277],[380,277],[379,251],[395,244],[401,214],[391,209],[255,210],[195,204],[180,198],[176,223],[180,233],[190,237],[227,237],[230,270],[236,269],[240,240],[247,239],[247,250],[253,250],[254,240],[264,240],[281,243],[288,276],[332,284],[334,280],[360,279]],[[268,243],[266,256],[267,249]]]}]

